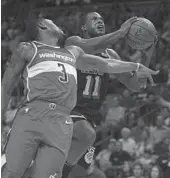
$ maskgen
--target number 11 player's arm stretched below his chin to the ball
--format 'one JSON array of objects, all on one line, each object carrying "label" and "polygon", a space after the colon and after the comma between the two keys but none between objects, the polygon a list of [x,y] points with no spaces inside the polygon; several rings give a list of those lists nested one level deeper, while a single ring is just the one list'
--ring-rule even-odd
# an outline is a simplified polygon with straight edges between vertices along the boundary
[{"label": "number 11 player's arm stretched below his chin to the ball", "polygon": [[66,40],[65,45],[79,46],[85,53],[89,54],[103,52],[109,45],[114,44],[120,38],[123,38],[129,31],[131,24],[136,20],[137,17],[132,17],[123,23],[119,30],[106,35],[86,39],[79,36],[72,36]]}]

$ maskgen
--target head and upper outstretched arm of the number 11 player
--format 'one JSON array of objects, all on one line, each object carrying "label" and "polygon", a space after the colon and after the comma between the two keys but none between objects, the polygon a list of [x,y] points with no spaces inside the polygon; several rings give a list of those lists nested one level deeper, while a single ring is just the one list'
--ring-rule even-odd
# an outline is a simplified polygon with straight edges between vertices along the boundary
[{"label": "head and upper outstretched arm of the number 11 player", "polygon": [[[77,45],[89,54],[101,53],[109,45],[124,37],[129,31],[131,24],[136,20],[137,17],[132,17],[122,24],[119,30],[105,35],[102,17],[96,12],[91,12],[85,17],[84,25],[82,26],[82,30],[87,32],[87,36],[84,36],[84,39],[79,36],[72,36],[66,40],[66,45]],[[89,31],[90,38],[88,37]]]}]

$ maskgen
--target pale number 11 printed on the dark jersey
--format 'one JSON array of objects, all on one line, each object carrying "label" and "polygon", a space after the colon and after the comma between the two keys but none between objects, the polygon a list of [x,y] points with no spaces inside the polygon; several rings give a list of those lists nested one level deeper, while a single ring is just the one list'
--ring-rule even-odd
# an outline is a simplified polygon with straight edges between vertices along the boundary
[{"label": "pale number 11 printed on the dark jersey", "polygon": [[91,76],[88,75],[86,77],[86,85],[83,91],[84,98],[93,98],[99,99],[100,98],[100,86],[101,86],[101,78],[100,76]]}]

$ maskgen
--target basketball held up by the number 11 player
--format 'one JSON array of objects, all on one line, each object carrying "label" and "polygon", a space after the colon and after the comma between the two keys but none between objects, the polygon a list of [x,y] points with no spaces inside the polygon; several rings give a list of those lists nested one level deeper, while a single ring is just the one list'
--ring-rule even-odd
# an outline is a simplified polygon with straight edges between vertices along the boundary
[{"label": "basketball held up by the number 11 player", "polygon": [[127,34],[127,43],[133,49],[146,49],[156,40],[157,31],[151,21],[145,18],[138,18]]}]

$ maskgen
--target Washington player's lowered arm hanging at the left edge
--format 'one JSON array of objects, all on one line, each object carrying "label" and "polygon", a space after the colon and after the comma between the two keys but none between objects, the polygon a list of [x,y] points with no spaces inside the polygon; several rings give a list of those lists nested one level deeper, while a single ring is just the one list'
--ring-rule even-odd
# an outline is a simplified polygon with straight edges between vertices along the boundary
[{"label": "Washington player's lowered arm hanging at the left edge", "polygon": [[21,43],[19,47],[13,52],[11,61],[5,70],[3,79],[2,79],[2,90],[1,90],[1,111],[2,119],[4,113],[6,112],[9,99],[14,87],[17,84],[17,81],[20,78],[21,73],[23,72],[27,62],[30,59],[30,56],[33,56],[34,48],[30,43]]}]

